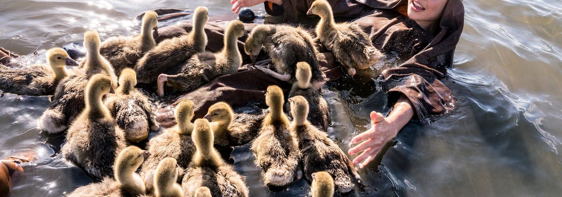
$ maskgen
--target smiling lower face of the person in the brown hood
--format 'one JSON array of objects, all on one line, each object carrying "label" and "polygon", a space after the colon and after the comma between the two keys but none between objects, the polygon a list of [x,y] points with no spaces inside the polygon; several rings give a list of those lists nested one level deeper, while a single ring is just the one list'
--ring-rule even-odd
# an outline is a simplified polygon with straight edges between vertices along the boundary
[{"label": "smiling lower face of the person in the brown hood", "polygon": [[418,23],[433,24],[441,17],[446,4],[447,0],[408,0],[408,17]]}]

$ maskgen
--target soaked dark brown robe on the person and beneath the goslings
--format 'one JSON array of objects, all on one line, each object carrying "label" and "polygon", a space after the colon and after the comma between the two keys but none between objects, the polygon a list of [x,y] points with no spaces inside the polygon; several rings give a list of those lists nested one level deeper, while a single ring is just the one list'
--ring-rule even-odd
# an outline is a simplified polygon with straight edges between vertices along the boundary
[{"label": "soaked dark brown robe on the person and beneath the goslings", "polygon": [[[299,16],[306,13],[312,2],[313,0],[283,1],[285,21],[301,19]],[[449,0],[439,24],[428,31],[396,11],[397,8],[405,6],[407,0],[347,0],[330,4],[334,16],[357,17],[352,22],[369,34],[369,39],[375,47],[386,54],[395,54],[398,59],[404,61],[399,67],[382,72],[384,88],[389,95],[389,105],[404,94],[413,104],[419,119],[445,113],[454,107],[451,90],[439,79],[445,77],[446,68],[452,66],[455,47],[463,31],[464,6],[460,0]],[[223,47],[224,29],[227,24],[228,22],[207,23],[207,50],[215,52]],[[247,33],[255,26],[246,24]],[[158,30],[157,40],[183,35],[189,30],[189,23],[162,28]],[[250,58],[243,51],[246,38],[247,34],[238,42],[244,64],[250,63]],[[327,77],[335,80],[343,76],[333,53],[321,48],[320,52],[320,65]],[[266,58],[264,54],[258,57]],[[253,79],[260,79],[262,83],[256,83],[259,81]],[[243,89],[237,89],[241,85]],[[264,99],[263,95],[268,85],[289,87],[283,81],[272,79],[260,71],[242,70],[233,75],[217,77],[202,88],[187,93],[185,97],[204,98],[194,100],[196,117],[202,117],[207,107],[218,100],[224,100],[236,107],[249,99]]]}]

